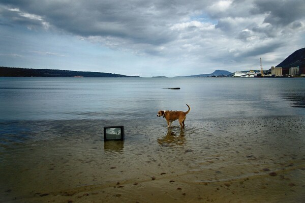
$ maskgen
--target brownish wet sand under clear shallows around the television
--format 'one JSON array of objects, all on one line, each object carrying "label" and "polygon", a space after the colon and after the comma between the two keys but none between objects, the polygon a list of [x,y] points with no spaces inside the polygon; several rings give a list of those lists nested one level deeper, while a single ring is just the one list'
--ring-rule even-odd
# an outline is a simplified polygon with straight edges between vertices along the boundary
[{"label": "brownish wet sand under clear shallows around the television", "polygon": [[2,143],[0,200],[301,202],[304,123],[302,116],[190,119],[180,132],[177,123],[168,130],[164,120],[133,121],[125,141],[105,143],[99,120],[17,123],[32,137]]}]

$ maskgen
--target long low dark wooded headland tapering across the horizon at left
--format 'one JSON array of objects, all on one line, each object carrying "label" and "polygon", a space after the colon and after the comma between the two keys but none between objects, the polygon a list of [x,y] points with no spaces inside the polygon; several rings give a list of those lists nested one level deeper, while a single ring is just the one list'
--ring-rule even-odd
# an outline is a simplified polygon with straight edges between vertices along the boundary
[{"label": "long low dark wooded headland tapering across the horizon at left", "polygon": [[0,77],[139,77],[113,73],[0,67]]}]

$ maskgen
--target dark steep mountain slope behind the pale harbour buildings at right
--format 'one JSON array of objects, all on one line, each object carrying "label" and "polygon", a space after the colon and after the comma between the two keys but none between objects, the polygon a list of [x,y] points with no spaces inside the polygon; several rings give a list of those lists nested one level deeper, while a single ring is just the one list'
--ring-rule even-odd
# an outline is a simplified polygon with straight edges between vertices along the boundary
[{"label": "dark steep mountain slope behind the pale harbour buildings at right", "polygon": [[283,68],[283,74],[289,73],[289,68],[299,67],[300,74],[305,74],[305,48],[296,50],[276,67]]}]

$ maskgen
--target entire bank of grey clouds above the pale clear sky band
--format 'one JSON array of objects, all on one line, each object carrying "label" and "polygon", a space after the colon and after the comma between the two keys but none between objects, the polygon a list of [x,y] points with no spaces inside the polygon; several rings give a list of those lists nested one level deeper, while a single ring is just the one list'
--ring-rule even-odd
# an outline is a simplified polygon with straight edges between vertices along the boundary
[{"label": "entire bank of grey clouds above the pale clear sky band", "polygon": [[211,67],[267,53],[275,59],[288,43],[299,47],[304,6],[303,0],[0,0],[0,26],[76,36],[170,61],[166,66]]}]

